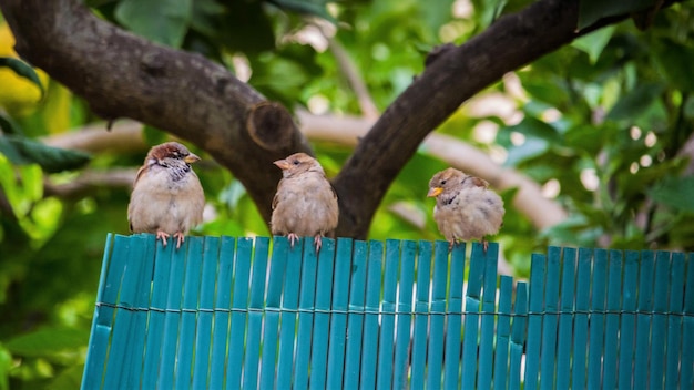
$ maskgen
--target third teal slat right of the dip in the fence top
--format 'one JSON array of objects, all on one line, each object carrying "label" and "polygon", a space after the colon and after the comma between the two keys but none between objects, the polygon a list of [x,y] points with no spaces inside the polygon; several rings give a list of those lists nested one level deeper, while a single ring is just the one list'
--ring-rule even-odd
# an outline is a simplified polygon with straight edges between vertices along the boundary
[{"label": "third teal slat right of the dip in the fence top", "polygon": [[561,270],[561,304],[557,346],[557,389],[571,383],[571,340],[573,339],[573,300],[575,297],[576,249],[564,248]]}]

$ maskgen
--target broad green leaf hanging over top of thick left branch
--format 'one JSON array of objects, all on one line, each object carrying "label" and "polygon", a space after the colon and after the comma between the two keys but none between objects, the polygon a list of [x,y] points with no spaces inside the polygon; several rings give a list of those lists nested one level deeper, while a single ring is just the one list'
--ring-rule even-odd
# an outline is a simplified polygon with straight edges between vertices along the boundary
[{"label": "broad green leaf hanging over top of thick left branch", "polygon": [[193,0],[122,0],[115,19],[157,43],[180,48],[193,14]]}]

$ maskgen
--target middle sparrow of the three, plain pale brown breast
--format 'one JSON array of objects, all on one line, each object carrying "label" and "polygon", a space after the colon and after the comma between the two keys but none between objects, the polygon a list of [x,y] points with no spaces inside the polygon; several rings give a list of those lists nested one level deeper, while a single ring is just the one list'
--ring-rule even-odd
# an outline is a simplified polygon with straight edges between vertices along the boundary
[{"label": "middle sparrow of the three, plain pale brown breast", "polygon": [[337,227],[338,217],[337,194],[323,166],[306,153],[273,164],[283,175],[273,199],[273,234],[287,235],[292,247],[298,237],[314,236],[316,250],[320,250],[320,237]]}]

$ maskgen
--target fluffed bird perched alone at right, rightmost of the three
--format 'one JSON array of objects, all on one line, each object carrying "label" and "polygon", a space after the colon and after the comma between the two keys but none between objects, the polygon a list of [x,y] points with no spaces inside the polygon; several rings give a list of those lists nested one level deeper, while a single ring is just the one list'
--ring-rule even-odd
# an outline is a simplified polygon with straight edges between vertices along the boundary
[{"label": "fluffed bird perched alone at right, rightmost of the three", "polygon": [[429,182],[427,196],[436,197],[433,219],[449,242],[449,248],[460,240],[481,239],[499,232],[503,222],[503,201],[488,188],[489,183],[456,168],[443,170]]}]

